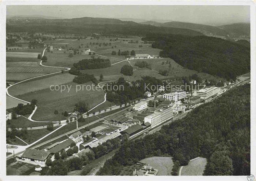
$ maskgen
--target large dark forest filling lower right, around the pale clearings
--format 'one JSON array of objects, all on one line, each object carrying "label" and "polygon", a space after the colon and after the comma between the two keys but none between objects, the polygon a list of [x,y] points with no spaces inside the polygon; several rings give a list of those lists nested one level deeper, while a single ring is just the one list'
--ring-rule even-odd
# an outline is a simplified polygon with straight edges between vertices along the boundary
[{"label": "large dark forest filling lower right, around the pale clearings", "polygon": [[152,156],[172,157],[173,171],[203,157],[204,175],[249,175],[250,85],[225,92],[154,134],[124,141],[98,175],[119,175],[123,167]]}]

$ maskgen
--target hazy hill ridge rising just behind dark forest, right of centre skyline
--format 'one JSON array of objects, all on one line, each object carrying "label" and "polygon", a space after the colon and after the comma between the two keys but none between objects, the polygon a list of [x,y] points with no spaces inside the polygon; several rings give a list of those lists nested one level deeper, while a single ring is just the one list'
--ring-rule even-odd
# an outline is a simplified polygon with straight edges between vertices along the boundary
[{"label": "hazy hill ridge rising just behind dark forest, right of centre skyline", "polygon": [[221,35],[221,36],[225,36],[228,34],[225,30],[222,30],[215,26],[209,26],[205,24],[168,22],[168,23],[163,23],[162,26],[172,27],[172,28],[185,28],[185,29],[198,31],[203,34],[214,34],[214,35]]}]

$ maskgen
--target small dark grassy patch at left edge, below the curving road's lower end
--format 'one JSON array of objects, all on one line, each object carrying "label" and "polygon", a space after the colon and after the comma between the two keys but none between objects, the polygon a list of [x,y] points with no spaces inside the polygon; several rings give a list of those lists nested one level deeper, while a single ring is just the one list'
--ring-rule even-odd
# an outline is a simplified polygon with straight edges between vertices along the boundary
[{"label": "small dark grassy patch at left edge, below the curving road's lower end", "polygon": [[6,127],[11,127],[11,125],[14,125],[15,127],[37,127],[37,126],[43,126],[43,125],[46,126],[49,124],[49,123],[32,122],[23,116],[19,116],[17,117],[17,119],[11,119],[8,122],[10,124],[6,124]]}]

